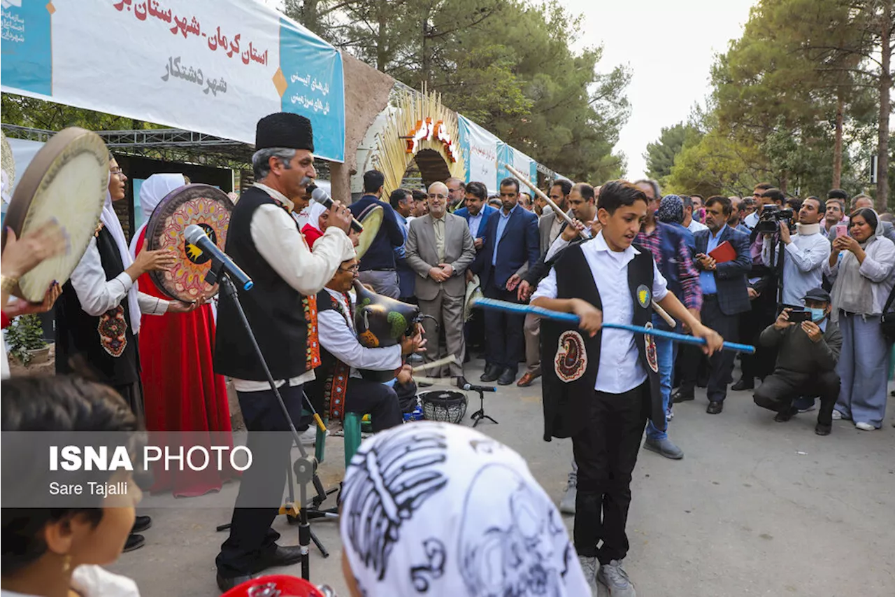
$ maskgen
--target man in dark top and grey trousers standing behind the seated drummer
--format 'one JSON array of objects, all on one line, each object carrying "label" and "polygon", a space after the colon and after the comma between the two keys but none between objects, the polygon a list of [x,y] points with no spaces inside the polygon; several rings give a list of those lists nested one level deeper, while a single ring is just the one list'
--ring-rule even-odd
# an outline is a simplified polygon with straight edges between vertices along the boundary
[{"label": "man in dark top and grey trousers standing behind the seated drummer", "polygon": [[378,294],[392,299],[401,296],[400,281],[395,264],[395,249],[404,245],[404,229],[395,217],[395,210],[382,201],[386,177],[379,170],[368,170],[363,174],[363,196],[348,209],[357,220],[368,208],[382,208],[382,224],[367,252],[361,257],[360,280],[370,285]]}]

